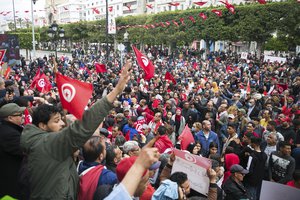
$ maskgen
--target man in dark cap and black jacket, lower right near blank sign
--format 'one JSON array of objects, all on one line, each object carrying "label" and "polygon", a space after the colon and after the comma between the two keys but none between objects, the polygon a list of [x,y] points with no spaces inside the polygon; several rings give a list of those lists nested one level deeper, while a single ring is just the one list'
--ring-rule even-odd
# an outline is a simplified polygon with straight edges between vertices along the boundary
[{"label": "man in dark cap and black jacket, lower right near blank sign", "polygon": [[240,165],[232,165],[230,168],[231,176],[223,184],[223,190],[226,194],[225,200],[249,199],[242,181],[245,174],[249,171]]}]

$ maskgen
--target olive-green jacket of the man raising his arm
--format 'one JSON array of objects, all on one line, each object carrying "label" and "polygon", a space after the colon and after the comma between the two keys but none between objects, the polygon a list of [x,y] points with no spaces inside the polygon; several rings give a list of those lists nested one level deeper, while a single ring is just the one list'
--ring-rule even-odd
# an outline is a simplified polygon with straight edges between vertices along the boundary
[{"label": "olive-green jacket of the man raising his arm", "polygon": [[76,199],[79,177],[73,152],[93,135],[113,105],[104,97],[59,132],[27,125],[21,147],[28,154],[30,199]]}]

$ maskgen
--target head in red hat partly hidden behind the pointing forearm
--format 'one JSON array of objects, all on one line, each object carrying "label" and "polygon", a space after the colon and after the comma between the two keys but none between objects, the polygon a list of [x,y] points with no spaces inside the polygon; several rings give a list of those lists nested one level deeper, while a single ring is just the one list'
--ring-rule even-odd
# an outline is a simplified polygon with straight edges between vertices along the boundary
[{"label": "head in red hat partly hidden behind the pointing forearm", "polygon": [[[137,158],[136,156],[123,158],[121,160],[121,162],[117,165],[116,174],[117,174],[119,182],[121,182],[123,180],[126,173],[129,171],[131,166],[136,161],[136,158]],[[143,174],[143,176],[142,176],[142,178],[141,178],[141,180],[138,184],[138,187],[135,190],[135,193],[134,193],[133,196],[140,197],[144,193],[144,191],[146,190],[148,182],[149,182],[149,170],[146,170],[144,172],[144,174]]]}]

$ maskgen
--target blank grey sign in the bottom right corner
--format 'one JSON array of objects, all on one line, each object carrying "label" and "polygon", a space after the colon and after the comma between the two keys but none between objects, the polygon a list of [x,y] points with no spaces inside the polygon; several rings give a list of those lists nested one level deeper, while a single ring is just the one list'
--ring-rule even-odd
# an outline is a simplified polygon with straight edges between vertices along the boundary
[{"label": "blank grey sign in the bottom right corner", "polygon": [[299,189],[270,181],[263,181],[261,191],[260,200],[292,200],[300,197]]}]

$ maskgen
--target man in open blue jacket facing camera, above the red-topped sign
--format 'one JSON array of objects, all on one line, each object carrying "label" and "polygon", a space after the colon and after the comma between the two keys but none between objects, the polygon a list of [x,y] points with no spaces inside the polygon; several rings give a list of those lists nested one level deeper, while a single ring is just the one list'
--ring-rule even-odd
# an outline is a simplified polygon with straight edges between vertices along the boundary
[{"label": "man in open blue jacket facing camera, above the red-topped sign", "polygon": [[209,144],[215,142],[218,144],[218,153],[220,154],[220,143],[218,135],[211,130],[211,123],[208,120],[202,122],[203,129],[196,133],[195,139],[201,143],[201,154],[205,157],[209,154]]}]

